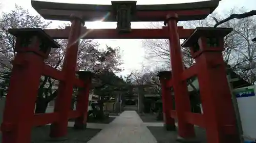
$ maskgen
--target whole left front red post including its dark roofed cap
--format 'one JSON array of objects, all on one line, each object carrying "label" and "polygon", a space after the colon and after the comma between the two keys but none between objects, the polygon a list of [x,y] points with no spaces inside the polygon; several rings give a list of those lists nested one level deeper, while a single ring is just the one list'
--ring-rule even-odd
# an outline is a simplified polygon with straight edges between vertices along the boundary
[{"label": "whole left front red post including its dark roofed cap", "polygon": [[17,54],[1,124],[2,142],[30,142],[44,60],[51,48],[59,45],[40,28],[10,29],[8,32],[16,37],[14,50]]}]

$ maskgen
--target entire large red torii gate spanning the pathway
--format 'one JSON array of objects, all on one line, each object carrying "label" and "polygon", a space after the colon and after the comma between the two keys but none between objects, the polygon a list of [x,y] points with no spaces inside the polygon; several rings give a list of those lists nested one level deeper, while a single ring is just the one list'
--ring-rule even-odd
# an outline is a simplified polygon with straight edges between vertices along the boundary
[{"label": "entire large red torii gate spanning the pathway", "polygon": [[[91,74],[86,72],[75,77],[78,42],[77,39],[169,39],[172,58],[172,79],[161,78],[165,124],[174,129],[178,119],[178,134],[183,140],[195,137],[194,125],[206,128],[208,142],[239,142],[236,121],[227,85],[221,51],[223,37],[230,29],[197,28],[183,29],[177,26],[182,20],[204,19],[219,1],[206,1],[170,5],[137,5],[136,2],[112,2],[111,5],[82,5],[31,1],[33,8],[44,18],[71,20],[65,30],[22,29],[10,30],[17,37],[17,56],[1,125],[3,143],[30,142],[31,128],[51,125],[51,137],[67,135],[68,119],[76,118],[77,129],[86,128],[87,107]],[[72,15],[72,16],[71,16]],[[178,17],[179,16],[179,17]],[[87,30],[83,21],[117,21],[116,30]],[[125,19],[122,21],[122,19]],[[168,26],[162,29],[131,30],[131,21],[163,21]],[[86,33],[86,34],[85,34]],[[65,61],[61,71],[44,64],[51,47],[58,45],[53,39],[69,39]],[[210,37],[210,38],[209,38]],[[212,39],[213,38],[213,39]],[[214,39],[215,38],[215,39]],[[183,46],[191,47],[196,65],[183,69],[180,39],[187,39]],[[217,40],[216,40],[217,39]],[[208,41],[214,44],[207,45]],[[218,42],[216,42],[218,41]],[[200,70],[198,70],[200,69]],[[84,73],[84,72],[82,72]],[[34,106],[41,75],[60,80],[59,93],[54,112],[34,115]],[[204,115],[190,112],[187,85],[184,80],[198,75]],[[223,82],[218,82],[218,81]],[[215,89],[212,89],[215,85]],[[77,110],[70,110],[73,86],[80,87]],[[169,106],[166,88],[173,86],[176,111]],[[19,96],[17,96],[19,95]],[[219,106],[217,106],[217,103]],[[65,106],[63,106],[65,105]]]}]

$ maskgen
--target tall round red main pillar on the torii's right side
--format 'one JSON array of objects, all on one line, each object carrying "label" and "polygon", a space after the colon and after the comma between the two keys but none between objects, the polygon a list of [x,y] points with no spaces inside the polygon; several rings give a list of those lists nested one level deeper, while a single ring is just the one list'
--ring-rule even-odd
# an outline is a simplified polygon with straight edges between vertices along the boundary
[{"label": "tall round red main pillar on the torii's right side", "polygon": [[[170,18],[172,17],[172,18]],[[167,23],[169,27],[170,40],[170,63],[172,67],[172,79],[175,93],[175,105],[178,117],[178,134],[183,138],[195,137],[194,125],[188,124],[185,119],[185,112],[190,111],[190,101],[187,91],[187,83],[182,82],[184,71],[180,39],[177,30],[177,15],[170,15]]]}]

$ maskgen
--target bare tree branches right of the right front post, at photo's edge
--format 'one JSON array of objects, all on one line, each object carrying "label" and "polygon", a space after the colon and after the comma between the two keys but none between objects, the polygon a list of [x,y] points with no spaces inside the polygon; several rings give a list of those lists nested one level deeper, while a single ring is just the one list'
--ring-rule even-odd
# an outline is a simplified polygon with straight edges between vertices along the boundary
[{"label": "bare tree branches right of the right front post, at photo's edge", "polygon": [[[231,66],[233,71],[237,72],[242,78],[253,84],[256,81],[256,43],[254,43],[252,39],[256,33],[256,16],[246,17],[246,15],[249,16],[252,13],[247,13],[245,11],[245,9],[233,9],[230,12],[231,14],[226,14],[227,18],[225,19],[228,20],[221,20],[216,23],[215,26],[219,25],[221,27],[233,28],[232,33],[225,37],[225,51],[223,52],[224,60]],[[215,21],[218,21],[216,17],[214,17],[214,19]]]}]

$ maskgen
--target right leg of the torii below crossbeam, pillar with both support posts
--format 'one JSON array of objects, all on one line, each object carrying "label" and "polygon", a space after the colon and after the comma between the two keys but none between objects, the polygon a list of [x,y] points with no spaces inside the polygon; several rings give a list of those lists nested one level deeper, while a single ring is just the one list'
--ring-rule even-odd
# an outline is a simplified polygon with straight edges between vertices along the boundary
[{"label": "right leg of the torii below crossbeam, pillar with both support posts", "polygon": [[[178,119],[181,137],[193,139],[194,125],[197,125],[206,128],[207,142],[240,142],[226,77],[226,64],[222,56],[223,38],[231,31],[232,28],[196,28],[182,44],[183,47],[190,47],[190,53],[196,60],[196,64],[188,69],[184,69],[181,51],[178,48],[170,49],[172,72],[158,73],[167,130],[175,130],[174,119]],[[171,41],[174,39],[178,41],[177,36]],[[179,42],[170,43],[170,47],[179,46]],[[196,75],[203,114],[190,110],[186,80]],[[174,88],[176,110],[173,110],[171,87]]]}]

